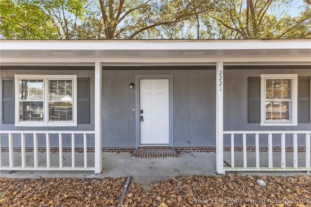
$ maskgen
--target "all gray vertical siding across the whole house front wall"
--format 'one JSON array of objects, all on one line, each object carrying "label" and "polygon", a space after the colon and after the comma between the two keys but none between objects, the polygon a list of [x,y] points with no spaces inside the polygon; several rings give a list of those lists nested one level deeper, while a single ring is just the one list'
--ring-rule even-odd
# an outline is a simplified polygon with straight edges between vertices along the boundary
[{"label": "all gray vertical siding across the whole house front wall", "polygon": [[[19,67],[20,68],[20,67]],[[259,76],[264,73],[297,73],[298,76],[311,76],[308,69],[273,69],[271,66],[262,69],[239,67],[224,70],[224,129],[225,130],[310,130],[311,123],[299,123],[298,126],[272,127],[260,126],[259,123],[247,121],[247,83],[249,76]],[[299,68],[299,67],[296,67]],[[14,77],[14,74],[77,74],[78,77],[90,78],[90,124],[78,124],[77,127],[15,127],[14,124],[0,123],[1,130],[94,130],[94,70],[59,70],[59,69],[1,69],[2,77]],[[104,68],[103,70],[103,147],[135,147],[136,115],[135,89],[129,84],[135,83],[136,75],[172,74],[173,75],[173,137],[175,147],[215,146],[215,68],[202,66],[191,67],[134,67]],[[2,99],[2,90],[0,90]],[[2,100],[0,102],[2,108]],[[136,109],[139,110],[139,109]],[[2,110],[0,110],[2,120]],[[52,136],[53,137],[53,136]],[[230,144],[225,136],[225,146]],[[249,146],[254,145],[254,139],[247,137]],[[280,138],[274,136],[274,145],[279,146]],[[291,137],[287,136],[287,143]],[[268,139],[260,137],[260,145],[267,146]],[[45,146],[44,135],[38,138],[39,146]],[[298,137],[299,146],[304,145],[304,139]],[[1,145],[7,145],[7,138],[1,138]],[[26,138],[27,147],[33,146],[32,137]],[[237,137],[236,146],[242,145],[242,138]],[[14,138],[14,146],[20,146],[18,136]],[[51,147],[58,146],[58,138],[51,141]],[[65,135],[63,146],[70,147],[71,140]],[[83,146],[82,136],[76,137],[76,147]],[[94,146],[92,138],[88,146]]]}]

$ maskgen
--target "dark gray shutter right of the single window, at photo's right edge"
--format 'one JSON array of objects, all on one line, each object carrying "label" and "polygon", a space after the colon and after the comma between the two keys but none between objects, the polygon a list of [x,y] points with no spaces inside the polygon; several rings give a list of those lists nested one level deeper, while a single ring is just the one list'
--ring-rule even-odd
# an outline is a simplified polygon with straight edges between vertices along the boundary
[{"label": "dark gray shutter right of the single window, at photo's right edge", "polygon": [[298,123],[310,123],[310,77],[298,77]]}]

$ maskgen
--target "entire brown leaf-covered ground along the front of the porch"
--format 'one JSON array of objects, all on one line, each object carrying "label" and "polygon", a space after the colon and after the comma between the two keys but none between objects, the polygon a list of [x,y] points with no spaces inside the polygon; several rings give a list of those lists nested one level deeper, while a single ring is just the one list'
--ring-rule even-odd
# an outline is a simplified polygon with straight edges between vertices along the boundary
[{"label": "entire brown leaf-covered ground along the front of the porch", "polygon": [[[266,186],[256,181],[262,179]],[[0,206],[115,206],[126,178],[0,178]],[[311,207],[311,176],[180,175],[144,190],[130,182],[121,207]]]}]

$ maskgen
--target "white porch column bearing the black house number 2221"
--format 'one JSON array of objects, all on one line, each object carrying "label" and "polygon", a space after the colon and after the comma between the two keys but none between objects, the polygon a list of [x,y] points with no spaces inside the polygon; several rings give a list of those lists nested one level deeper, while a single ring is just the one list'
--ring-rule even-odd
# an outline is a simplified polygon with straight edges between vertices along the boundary
[{"label": "white porch column bearing the black house number 2221", "polygon": [[224,172],[224,63],[216,63],[216,171]]}]

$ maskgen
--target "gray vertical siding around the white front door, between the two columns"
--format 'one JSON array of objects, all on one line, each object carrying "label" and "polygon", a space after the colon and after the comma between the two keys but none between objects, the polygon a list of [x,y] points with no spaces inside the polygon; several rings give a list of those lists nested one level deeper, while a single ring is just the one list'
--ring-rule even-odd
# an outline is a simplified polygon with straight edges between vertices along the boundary
[{"label": "gray vertical siding around the white front door, between the two columns", "polygon": [[215,146],[215,70],[210,69],[104,70],[104,146],[135,147],[135,90],[129,84],[145,74],[173,74],[174,146]]}]

